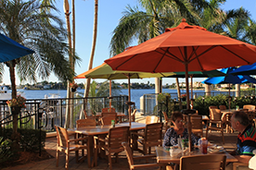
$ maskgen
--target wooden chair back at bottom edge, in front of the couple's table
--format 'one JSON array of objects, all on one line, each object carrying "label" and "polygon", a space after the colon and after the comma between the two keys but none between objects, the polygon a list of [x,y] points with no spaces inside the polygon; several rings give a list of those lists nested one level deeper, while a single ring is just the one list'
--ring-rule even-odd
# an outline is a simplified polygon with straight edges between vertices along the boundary
[{"label": "wooden chair back at bottom edge, in front of the couple's table", "polygon": [[180,170],[224,170],[225,160],[226,156],[224,154],[183,156],[180,159]]}]

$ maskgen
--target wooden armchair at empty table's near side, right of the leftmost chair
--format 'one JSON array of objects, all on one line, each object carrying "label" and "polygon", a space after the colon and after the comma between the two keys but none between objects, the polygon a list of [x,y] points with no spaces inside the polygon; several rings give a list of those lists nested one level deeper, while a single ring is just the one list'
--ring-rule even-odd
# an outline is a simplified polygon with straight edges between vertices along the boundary
[{"label": "wooden armchair at empty table's near side, right of the leftmost chair", "polygon": [[[96,148],[100,148],[108,152],[109,169],[112,169],[111,153],[114,152],[116,162],[118,161],[118,153],[123,152],[122,142],[128,142],[130,127],[110,128],[109,135],[105,139],[96,139]],[[95,164],[97,164],[97,152],[95,154]]]}]

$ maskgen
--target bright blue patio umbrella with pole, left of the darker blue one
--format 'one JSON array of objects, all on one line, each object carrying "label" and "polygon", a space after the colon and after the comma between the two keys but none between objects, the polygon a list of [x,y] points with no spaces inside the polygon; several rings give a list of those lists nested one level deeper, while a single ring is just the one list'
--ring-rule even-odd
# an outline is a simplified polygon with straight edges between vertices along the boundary
[{"label": "bright blue patio umbrella with pole, left of the darker blue one", "polygon": [[[221,71],[226,74],[224,77],[214,77],[205,79],[202,81],[204,84],[241,84],[241,83],[256,83],[256,79],[248,76],[248,75],[237,75],[234,76],[231,74],[234,70],[236,70],[236,67],[227,67],[223,68]],[[230,88],[229,88],[229,96],[230,96]],[[230,103],[229,103],[229,109],[230,109]]]}]

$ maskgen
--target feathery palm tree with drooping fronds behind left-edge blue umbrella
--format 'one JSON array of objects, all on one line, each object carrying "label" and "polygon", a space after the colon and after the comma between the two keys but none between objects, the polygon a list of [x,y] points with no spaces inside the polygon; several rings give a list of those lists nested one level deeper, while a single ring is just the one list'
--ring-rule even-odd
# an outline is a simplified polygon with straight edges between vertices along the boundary
[{"label": "feathery palm tree with drooping fronds behind left-edge blue umbrella", "polygon": [[[45,6],[38,0],[0,0],[0,31],[35,51],[33,55],[5,63],[9,68],[13,99],[17,98],[16,69],[20,81],[46,79],[52,72],[60,80],[71,79],[74,75],[65,57],[69,52],[65,43],[67,32],[57,16],[41,13],[46,8],[57,11],[54,6]],[[13,122],[14,134],[17,124]]]}]

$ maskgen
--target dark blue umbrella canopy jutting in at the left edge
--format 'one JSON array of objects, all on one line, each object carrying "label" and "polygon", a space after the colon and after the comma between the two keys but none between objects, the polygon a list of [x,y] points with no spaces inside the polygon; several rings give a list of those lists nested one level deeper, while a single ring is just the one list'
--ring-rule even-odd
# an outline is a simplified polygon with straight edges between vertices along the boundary
[{"label": "dark blue umbrella canopy jutting in at the left edge", "polygon": [[0,33],[0,63],[14,60],[24,55],[33,54],[34,51],[19,44]]}]

